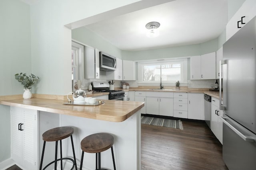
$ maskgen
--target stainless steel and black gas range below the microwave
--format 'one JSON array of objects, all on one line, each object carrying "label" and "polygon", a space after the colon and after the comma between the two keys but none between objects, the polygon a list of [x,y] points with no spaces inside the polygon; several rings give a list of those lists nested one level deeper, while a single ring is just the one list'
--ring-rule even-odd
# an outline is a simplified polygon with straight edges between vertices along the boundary
[{"label": "stainless steel and black gas range below the microwave", "polygon": [[123,90],[109,90],[108,82],[92,82],[94,92],[109,92],[108,100],[124,100]]}]

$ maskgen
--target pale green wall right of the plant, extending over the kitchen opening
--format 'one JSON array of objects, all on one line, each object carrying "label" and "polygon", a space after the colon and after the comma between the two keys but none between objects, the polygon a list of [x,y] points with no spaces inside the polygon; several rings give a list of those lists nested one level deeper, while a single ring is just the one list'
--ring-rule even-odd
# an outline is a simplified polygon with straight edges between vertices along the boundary
[{"label": "pale green wall right of the plant, extending over the kitchen opening", "polygon": [[41,77],[36,92],[64,95],[72,90],[71,30],[64,25],[138,1],[41,0],[33,4],[32,70]]}]

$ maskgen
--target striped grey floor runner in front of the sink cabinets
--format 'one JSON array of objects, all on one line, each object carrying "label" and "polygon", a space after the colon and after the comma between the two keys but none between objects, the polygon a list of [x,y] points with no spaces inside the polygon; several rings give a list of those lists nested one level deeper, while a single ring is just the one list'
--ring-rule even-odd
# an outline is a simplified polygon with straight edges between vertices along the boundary
[{"label": "striped grey floor runner in front of the sink cabinets", "polygon": [[170,119],[162,119],[156,117],[141,117],[141,123],[147,125],[155,125],[155,126],[162,126],[162,127],[171,127],[176,129],[183,130],[183,125],[181,120],[170,120]]}]

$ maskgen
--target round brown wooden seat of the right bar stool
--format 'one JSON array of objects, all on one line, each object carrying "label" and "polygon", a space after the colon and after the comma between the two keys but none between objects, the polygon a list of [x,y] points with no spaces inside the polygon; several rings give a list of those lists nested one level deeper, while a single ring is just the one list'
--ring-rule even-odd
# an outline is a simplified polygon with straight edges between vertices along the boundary
[{"label": "round brown wooden seat of the right bar stool", "polygon": [[114,144],[114,137],[108,133],[96,133],[85,137],[81,141],[81,149],[88,153],[98,153],[110,149]]}]

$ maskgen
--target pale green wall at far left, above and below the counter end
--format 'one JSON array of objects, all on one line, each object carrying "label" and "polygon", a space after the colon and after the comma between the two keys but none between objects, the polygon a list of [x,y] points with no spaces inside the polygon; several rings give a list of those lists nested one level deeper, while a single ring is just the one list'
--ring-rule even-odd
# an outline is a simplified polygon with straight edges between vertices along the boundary
[{"label": "pale green wall at far left, above and below the counter end", "polygon": [[[0,96],[22,94],[14,79],[31,73],[30,7],[20,0],[0,0]],[[10,107],[0,105],[0,162],[10,158]]]}]

